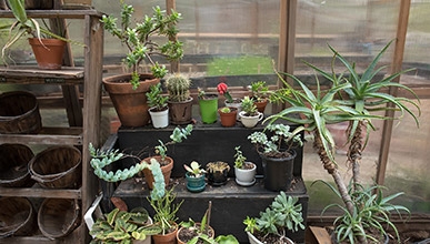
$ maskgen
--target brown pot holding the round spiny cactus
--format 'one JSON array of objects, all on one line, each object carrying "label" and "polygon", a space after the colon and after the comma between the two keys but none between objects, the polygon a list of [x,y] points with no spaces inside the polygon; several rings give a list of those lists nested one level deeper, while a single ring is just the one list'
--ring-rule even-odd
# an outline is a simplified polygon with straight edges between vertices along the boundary
[{"label": "brown pot holding the round spiny cactus", "polygon": [[189,124],[192,121],[192,98],[184,102],[168,101],[169,116],[172,124]]}]

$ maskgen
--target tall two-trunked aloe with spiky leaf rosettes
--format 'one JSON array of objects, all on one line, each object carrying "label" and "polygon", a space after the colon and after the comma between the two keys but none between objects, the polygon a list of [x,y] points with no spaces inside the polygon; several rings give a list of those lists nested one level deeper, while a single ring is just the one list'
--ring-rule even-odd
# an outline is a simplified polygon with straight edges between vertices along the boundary
[{"label": "tall two-trunked aloe with spiky leaf rosettes", "polygon": [[[398,82],[392,82],[394,78],[398,78],[406,71],[384,75],[382,80],[374,79],[376,74],[382,69],[377,68],[378,61],[381,59],[389,44],[390,43],[388,43],[376,55],[369,67],[362,73],[360,72],[360,74],[357,72],[354,64],[349,63],[340,53],[330,47],[334,53],[333,59],[338,59],[350,74],[348,78],[344,78],[343,74],[334,73],[336,69],[332,69],[332,72],[329,73],[308,63],[309,67],[331,81],[331,85],[324,91],[321,91],[320,85],[317,85],[316,94],[313,94],[310,88],[300,81],[300,79],[287,73],[286,75],[291,78],[300,87],[300,90],[293,89],[286,82],[283,77],[277,72],[284,85],[288,87],[291,91],[291,93],[288,96],[284,96],[283,100],[291,106],[278,114],[269,116],[267,120],[274,122],[282,118],[282,120],[289,120],[297,124],[301,124],[301,126],[299,126],[300,130],[308,131],[313,134],[314,149],[317,149],[324,170],[327,170],[327,172],[333,177],[336,187],[340,193],[341,200],[343,201],[343,217],[348,217],[347,215],[352,217],[357,216],[358,209],[353,199],[357,194],[362,194],[363,191],[360,186],[361,183],[358,177],[360,174],[359,162],[361,159],[362,150],[366,146],[364,138],[367,140],[369,132],[374,130],[372,120],[392,120],[402,118],[402,114],[408,113],[416,120],[417,124],[419,124],[417,115],[407,106],[407,104],[412,105],[420,112],[419,105],[417,103],[408,98],[393,96],[391,94],[384,93],[382,90],[387,88],[403,89],[417,98],[414,92],[408,87]],[[388,104],[391,104],[392,106]],[[371,111],[387,112],[392,110],[398,110],[401,115],[398,118],[389,118],[386,115],[380,115],[382,113],[371,114]],[[289,116],[297,113],[300,113],[300,118]],[[327,124],[339,123],[343,121],[349,122],[349,129],[347,131],[349,132],[348,141],[350,142],[350,146],[348,149],[347,155],[349,155],[348,162],[351,163],[352,169],[352,183],[350,187],[347,186],[343,176],[339,171],[333,153],[333,149],[336,148],[334,140],[330,131],[327,129]],[[363,132],[366,133],[364,138],[362,136]],[[371,197],[380,199],[381,196],[374,195]],[[379,206],[374,205],[377,202],[371,202],[369,204],[373,205],[376,209],[379,209]],[[368,213],[373,214],[372,212]],[[378,217],[378,214],[371,215],[369,217]],[[337,223],[341,222],[338,221]],[[357,222],[354,225],[356,228],[352,231],[353,233],[351,235],[359,243],[367,243],[369,241],[369,235],[373,236],[374,234],[370,234],[368,224],[368,222]],[[377,228],[377,231],[380,232],[381,230]],[[337,233],[334,233],[334,235],[337,235]],[[377,235],[380,236],[381,234],[377,233]],[[349,238],[350,235],[348,234],[347,236]]]}]

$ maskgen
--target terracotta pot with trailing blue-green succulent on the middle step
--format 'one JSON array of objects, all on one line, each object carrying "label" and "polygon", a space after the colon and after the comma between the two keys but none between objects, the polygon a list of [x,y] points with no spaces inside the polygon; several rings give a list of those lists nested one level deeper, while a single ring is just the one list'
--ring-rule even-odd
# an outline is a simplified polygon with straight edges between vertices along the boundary
[{"label": "terracotta pot with trailing blue-green succulent on the middle step", "polygon": [[[156,160],[160,163],[162,174],[164,175],[164,183],[166,185],[169,185],[170,183],[170,175],[171,171],[173,169],[173,159],[167,155],[168,146],[176,144],[176,143],[181,143],[184,139],[187,139],[192,132],[192,124],[188,124],[186,128],[176,128],[172,131],[172,134],[170,135],[169,142],[162,142],[161,140],[158,140],[159,145],[154,146],[157,155],[153,156],[148,156],[143,159],[142,161],[147,163],[151,163],[152,160]],[[148,169],[143,169],[143,175],[144,180],[148,184],[149,189],[152,189],[152,183],[154,182],[152,172],[149,171]]]}]

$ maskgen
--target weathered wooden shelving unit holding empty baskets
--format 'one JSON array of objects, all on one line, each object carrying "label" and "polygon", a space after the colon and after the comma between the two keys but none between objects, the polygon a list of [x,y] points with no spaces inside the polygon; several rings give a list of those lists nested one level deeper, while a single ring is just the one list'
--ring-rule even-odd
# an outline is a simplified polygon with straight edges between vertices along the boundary
[{"label": "weathered wooden shelving unit holding empty baskets", "polygon": [[[94,146],[100,144],[103,58],[103,27],[100,18],[102,13],[97,10],[29,10],[28,16],[41,19],[83,20],[84,64],[81,68],[74,68],[73,63],[70,63],[70,67],[56,71],[24,65],[0,68],[0,84],[61,85],[70,125],[69,128],[42,128],[38,134],[0,134],[0,143],[78,146],[82,152],[82,182],[78,190],[43,189],[37,184],[24,189],[0,187],[0,196],[78,199],[81,202],[82,221],[70,235],[59,240],[50,240],[43,235],[17,236],[6,240],[10,243],[88,243],[89,235],[83,215],[99,192],[98,181],[89,165],[90,155],[87,146],[90,142]],[[13,18],[13,16],[8,10],[1,10],[0,19],[4,18]],[[79,102],[78,85],[83,89],[83,106]]]}]

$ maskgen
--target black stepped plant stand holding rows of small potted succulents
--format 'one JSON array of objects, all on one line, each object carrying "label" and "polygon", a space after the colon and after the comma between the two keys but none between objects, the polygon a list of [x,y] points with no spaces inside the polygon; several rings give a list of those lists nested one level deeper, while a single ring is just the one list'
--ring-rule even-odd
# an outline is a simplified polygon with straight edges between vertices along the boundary
[{"label": "black stepped plant stand holding rows of small potted succulents", "polygon": [[[181,125],[184,126],[184,125]],[[291,125],[292,129],[296,126]],[[112,135],[104,148],[116,148],[127,153],[139,154],[141,157],[153,155],[153,146],[158,145],[158,140],[169,141],[169,136],[176,125],[169,125],[166,129],[153,129],[152,125],[143,128],[123,128]],[[213,124],[202,124],[197,122],[192,134],[182,143],[170,145],[168,155],[174,160],[174,166],[171,175],[171,185],[177,185],[177,200],[184,200],[181,210],[178,213],[180,221],[187,221],[192,217],[199,221],[204,213],[208,202],[212,201],[211,225],[217,235],[233,234],[241,243],[248,243],[242,221],[247,215],[258,216],[260,211],[264,211],[270,205],[278,192],[271,192],[263,187],[262,163],[253,145],[247,136],[253,131],[262,131],[263,126],[259,123],[253,129],[247,129],[238,122],[233,128],[222,128],[220,122]],[[243,154],[248,160],[254,162],[258,166],[257,183],[249,187],[239,186],[234,182],[233,155],[234,146],[241,145]],[[190,150],[191,149],[191,150]],[[289,195],[299,197],[303,206],[303,218],[306,222],[308,214],[307,189],[302,180],[302,149],[297,149],[294,160],[294,180],[296,184],[287,191]],[[212,161],[224,161],[230,164],[229,182],[223,186],[207,185],[201,193],[190,193],[184,186],[183,164],[191,161],[198,161],[206,165]],[[134,164],[131,160],[122,160],[120,165],[114,167],[124,167]],[[102,206],[109,210],[112,205],[108,202],[110,196],[122,199],[129,209],[134,206],[144,206],[153,214],[147,196],[149,191],[142,179],[134,177],[117,184],[107,184],[102,182],[104,200]],[[228,220],[226,222],[226,220]],[[304,243],[304,231],[291,233],[290,235],[297,243]]]}]

